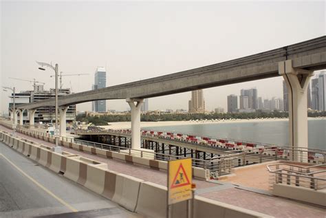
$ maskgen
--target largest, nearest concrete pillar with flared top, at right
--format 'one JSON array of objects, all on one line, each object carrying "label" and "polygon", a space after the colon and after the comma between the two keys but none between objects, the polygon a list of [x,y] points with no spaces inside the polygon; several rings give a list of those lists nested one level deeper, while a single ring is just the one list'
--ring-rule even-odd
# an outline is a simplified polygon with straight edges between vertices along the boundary
[{"label": "largest, nearest concrete pillar with flared top, at right", "polygon": [[[290,158],[293,161],[307,162],[307,87],[313,72],[293,68],[292,60],[287,60],[279,63],[279,74],[283,76],[287,85],[289,101],[289,146],[292,147]],[[303,149],[299,149],[299,147]]]}]

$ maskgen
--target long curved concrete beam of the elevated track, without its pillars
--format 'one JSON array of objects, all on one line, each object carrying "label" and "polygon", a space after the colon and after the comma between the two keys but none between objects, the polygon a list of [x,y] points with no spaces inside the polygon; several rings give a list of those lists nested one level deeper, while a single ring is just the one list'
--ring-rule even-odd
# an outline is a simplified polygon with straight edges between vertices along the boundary
[{"label": "long curved concrete beam of the elevated track, without its pillars", "polygon": [[[75,105],[94,100],[151,98],[270,78],[279,76],[279,62],[290,59],[294,68],[325,69],[326,36],[184,72],[61,96],[58,105]],[[54,99],[50,99],[19,105],[19,108],[34,109],[54,104]]]}]

